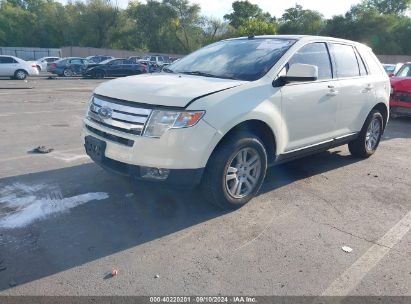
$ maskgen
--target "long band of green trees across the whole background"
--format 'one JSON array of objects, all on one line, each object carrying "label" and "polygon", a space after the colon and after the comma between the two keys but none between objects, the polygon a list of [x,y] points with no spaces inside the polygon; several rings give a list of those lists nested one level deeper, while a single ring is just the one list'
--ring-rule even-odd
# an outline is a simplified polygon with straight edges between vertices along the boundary
[{"label": "long band of green trees across the whole background", "polygon": [[[195,1],[194,1],[195,2]],[[117,2],[115,2],[117,3]],[[201,15],[188,0],[0,0],[0,45],[65,45],[189,53],[221,39],[264,34],[308,34],[364,42],[379,54],[411,53],[411,0],[363,0],[326,20],[295,5],[279,20],[249,1],[235,1],[225,20]]]}]

